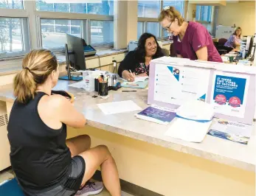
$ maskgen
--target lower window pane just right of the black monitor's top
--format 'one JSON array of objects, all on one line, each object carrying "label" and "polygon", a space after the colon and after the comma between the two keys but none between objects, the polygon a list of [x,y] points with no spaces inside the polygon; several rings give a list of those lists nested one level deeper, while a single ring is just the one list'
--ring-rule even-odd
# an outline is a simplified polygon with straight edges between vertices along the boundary
[{"label": "lower window pane just right of the black monitor's top", "polygon": [[114,42],[113,21],[91,21],[91,44],[94,46],[109,45]]}]

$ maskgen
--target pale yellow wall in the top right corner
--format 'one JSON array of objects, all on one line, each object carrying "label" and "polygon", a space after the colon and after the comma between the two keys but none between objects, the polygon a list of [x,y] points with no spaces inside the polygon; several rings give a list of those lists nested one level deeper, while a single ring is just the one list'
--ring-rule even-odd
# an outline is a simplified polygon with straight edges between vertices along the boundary
[{"label": "pale yellow wall in the top right corner", "polygon": [[255,1],[226,3],[218,10],[218,23],[224,26],[241,27],[243,35],[255,34]]}]

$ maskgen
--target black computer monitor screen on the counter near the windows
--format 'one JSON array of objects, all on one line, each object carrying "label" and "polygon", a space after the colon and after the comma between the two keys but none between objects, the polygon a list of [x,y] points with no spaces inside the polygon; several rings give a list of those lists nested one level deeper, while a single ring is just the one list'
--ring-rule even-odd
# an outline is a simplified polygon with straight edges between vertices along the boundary
[{"label": "black computer monitor screen on the counter near the windows", "polygon": [[66,34],[67,49],[69,50],[69,62],[77,70],[86,70],[86,59],[84,56],[82,38]]}]

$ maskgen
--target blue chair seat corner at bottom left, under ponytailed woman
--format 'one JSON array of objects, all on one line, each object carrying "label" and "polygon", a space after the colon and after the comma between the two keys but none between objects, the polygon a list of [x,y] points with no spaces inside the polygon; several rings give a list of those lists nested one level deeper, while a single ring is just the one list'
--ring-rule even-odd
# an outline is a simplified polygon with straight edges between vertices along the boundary
[{"label": "blue chair seat corner at bottom left, under ponytailed woman", "polygon": [[15,178],[0,186],[1,196],[25,196]]}]

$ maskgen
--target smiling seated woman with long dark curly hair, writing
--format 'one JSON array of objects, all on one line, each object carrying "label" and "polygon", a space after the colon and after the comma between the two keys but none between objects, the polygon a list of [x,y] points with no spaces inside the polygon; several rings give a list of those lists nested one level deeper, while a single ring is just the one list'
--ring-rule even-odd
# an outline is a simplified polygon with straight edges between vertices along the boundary
[{"label": "smiling seated woman with long dark curly hair, writing", "polygon": [[138,47],[134,51],[128,52],[128,55],[120,63],[118,74],[131,82],[134,81],[135,76],[148,76],[151,60],[162,56],[164,54],[155,35],[145,32],[139,38]]}]

